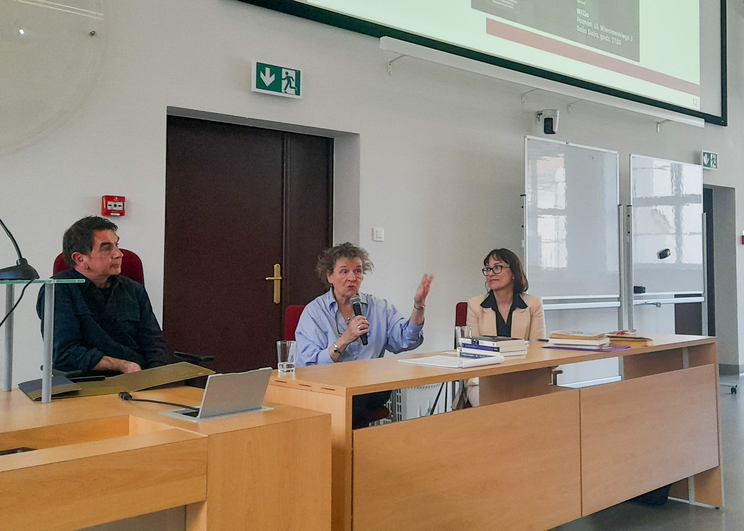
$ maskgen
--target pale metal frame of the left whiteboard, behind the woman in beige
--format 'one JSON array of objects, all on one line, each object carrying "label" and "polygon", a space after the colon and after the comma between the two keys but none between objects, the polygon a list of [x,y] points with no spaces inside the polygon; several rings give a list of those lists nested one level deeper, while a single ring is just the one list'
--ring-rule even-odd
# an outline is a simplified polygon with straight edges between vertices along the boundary
[{"label": "pale metal frame of the left whiteboard, behind the woman in beige", "polygon": [[[603,153],[611,153],[612,155],[615,155],[618,158],[618,164],[615,165],[615,202],[618,205],[618,208],[621,207],[620,205],[620,153],[615,149],[605,149],[603,147],[594,147],[594,146],[586,146],[584,144],[575,144],[574,142],[567,142],[562,140],[554,140],[552,138],[542,138],[539,136],[534,135],[525,135],[525,193],[522,194],[522,257],[524,260],[524,268],[525,268],[525,275],[527,278],[529,278],[529,260],[527,260],[527,234],[529,234],[529,216],[527,216],[527,176],[529,175],[529,164],[530,159],[527,155],[527,143],[529,141],[541,141],[541,142],[550,142],[551,144],[560,144],[562,146],[571,146],[571,147],[579,147],[582,149],[591,149],[592,151],[599,151]],[[618,222],[618,242],[620,247],[622,247],[621,242],[623,241],[623,224]],[[623,286],[623,253],[618,250],[618,291],[619,295],[562,295],[559,297],[543,297],[546,300],[558,300],[564,299],[564,300],[571,300],[573,302],[571,303],[556,303],[551,304],[550,309],[557,310],[557,309],[580,309],[580,308],[590,308],[590,307],[618,307],[618,327],[620,329],[623,328],[623,308],[626,306],[625,304],[625,297],[624,294],[624,286]],[[613,303],[612,306],[608,306],[608,303],[597,303],[597,299],[608,299],[608,298],[615,298],[618,297],[618,303]],[[589,302],[578,302],[578,301],[589,301],[594,300],[594,303]],[[590,305],[591,306],[588,306]],[[601,306],[597,306],[601,305]]]}]

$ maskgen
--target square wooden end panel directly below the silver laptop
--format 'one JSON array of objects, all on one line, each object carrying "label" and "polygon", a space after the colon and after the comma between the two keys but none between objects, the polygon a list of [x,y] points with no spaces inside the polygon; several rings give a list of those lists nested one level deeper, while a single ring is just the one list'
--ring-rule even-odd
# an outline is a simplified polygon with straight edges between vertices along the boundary
[{"label": "square wooden end panel directly below the silver laptop", "polygon": [[212,435],[207,477],[207,531],[330,531],[330,416]]}]

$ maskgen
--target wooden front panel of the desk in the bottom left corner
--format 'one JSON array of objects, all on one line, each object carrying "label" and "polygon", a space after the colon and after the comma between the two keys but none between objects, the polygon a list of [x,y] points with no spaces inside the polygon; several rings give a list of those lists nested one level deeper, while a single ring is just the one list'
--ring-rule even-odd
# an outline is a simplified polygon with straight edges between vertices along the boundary
[{"label": "wooden front panel of the desk in the bottom left corner", "polygon": [[[0,530],[72,531],[206,498],[206,437],[176,429],[140,437],[147,437],[147,446],[126,449],[117,439],[92,442],[87,446],[93,455],[83,448],[77,458],[1,472]],[[4,456],[4,461],[42,460],[68,448]]]}]

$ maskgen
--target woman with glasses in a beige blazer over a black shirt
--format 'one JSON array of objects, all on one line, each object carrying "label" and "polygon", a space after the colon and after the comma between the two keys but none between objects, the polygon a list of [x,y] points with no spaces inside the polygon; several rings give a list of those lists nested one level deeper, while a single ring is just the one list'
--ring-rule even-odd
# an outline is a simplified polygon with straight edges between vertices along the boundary
[{"label": "woman with glasses in a beige blazer over a black shirt", "polygon": [[[494,249],[483,260],[488,292],[468,300],[467,326],[472,335],[501,335],[536,341],[545,337],[542,299],[527,295],[522,262],[509,249]],[[478,405],[478,379],[465,385],[470,405]]]}]

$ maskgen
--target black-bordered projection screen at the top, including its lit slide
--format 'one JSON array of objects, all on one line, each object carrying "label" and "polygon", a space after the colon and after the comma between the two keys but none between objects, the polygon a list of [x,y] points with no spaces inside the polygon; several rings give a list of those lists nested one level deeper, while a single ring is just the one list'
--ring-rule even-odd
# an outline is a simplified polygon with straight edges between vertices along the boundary
[{"label": "black-bordered projection screen at the top, including its lit slide", "polygon": [[725,0],[241,0],[725,125]]}]

